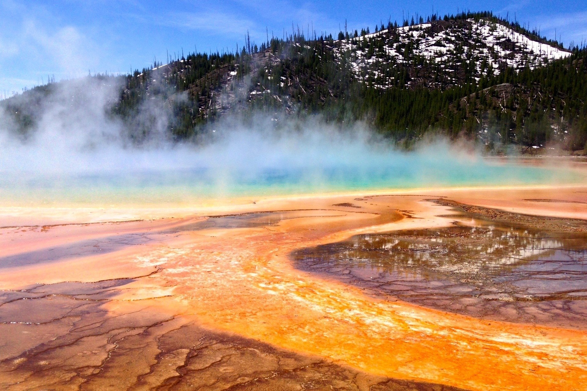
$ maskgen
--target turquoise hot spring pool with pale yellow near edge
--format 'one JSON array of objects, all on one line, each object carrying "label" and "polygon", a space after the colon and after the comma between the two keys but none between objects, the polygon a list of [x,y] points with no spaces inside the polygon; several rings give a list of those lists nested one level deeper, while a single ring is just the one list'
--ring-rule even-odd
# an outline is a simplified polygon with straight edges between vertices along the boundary
[{"label": "turquoise hot spring pool with pale yellow near edge", "polygon": [[291,169],[193,168],[124,173],[4,174],[0,205],[198,205],[239,197],[399,190],[423,187],[581,184],[565,167],[484,159],[424,159]]}]

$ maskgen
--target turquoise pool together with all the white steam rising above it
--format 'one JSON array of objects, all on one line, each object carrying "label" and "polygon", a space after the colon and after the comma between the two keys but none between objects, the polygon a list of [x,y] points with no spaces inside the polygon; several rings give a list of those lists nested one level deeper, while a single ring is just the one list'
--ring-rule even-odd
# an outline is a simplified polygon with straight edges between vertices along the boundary
[{"label": "turquoise pool together with all the white steam rising above it", "polygon": [[[319,119],[228,117],[197,143],[170,141],[165,102],[141,107],[149,134],[139,146],[109,110],[119,86],[92,79],[55,87],[33,113],[26,137],[0,110],[0,202],[198,204],[234,197],[444,186],[581,183],[563,167],[486,160],[444,141],[395,149],[361,124]],[[25,99],[25,97],[21,97]],[[156,119],[153,121],[153,119]],[[150,122],[149,122],[150,121]]]}]

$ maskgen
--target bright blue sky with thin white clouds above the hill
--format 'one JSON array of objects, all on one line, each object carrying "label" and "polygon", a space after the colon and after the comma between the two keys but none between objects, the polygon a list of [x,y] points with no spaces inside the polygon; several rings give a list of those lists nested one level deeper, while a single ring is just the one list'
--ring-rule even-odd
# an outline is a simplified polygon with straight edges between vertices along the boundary
[{"label": "bright blue sky with thin white clouds above the hill", "polygon": [[166,52],[208,52],[300,28],[333,33],[402,15],[491,10],[537,26],[549,38],[587,41],[587,1],[430,0],[0,0],[0,97],[55,79],[129,72]]}]

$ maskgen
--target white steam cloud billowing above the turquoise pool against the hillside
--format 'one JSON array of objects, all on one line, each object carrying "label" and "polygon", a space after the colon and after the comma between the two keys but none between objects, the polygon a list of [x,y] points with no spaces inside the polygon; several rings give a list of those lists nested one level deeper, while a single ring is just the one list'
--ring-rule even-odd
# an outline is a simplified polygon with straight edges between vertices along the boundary
[{"label": "white steam cloud billowing above the turquoise pool against the hillside", "polygon": [[392,155],[405,157],[360,123],[340,130],[318,117],[258,114],[248,124],[232,117],[215,123],[204,145],[175,143],[166,132],[172,114],[166,102],[154,99],[143,102],[138,116],[139,121],[156,119],[149,122],[147,142],[133,146],[125,124],[109,115],[121,88],[112,80],[86,77],[57,83],[53,93],[31,102],[38,121],[25,138],[15,134],[11,116],[0,113],[1,170],[359,167],[381,164]]}]

